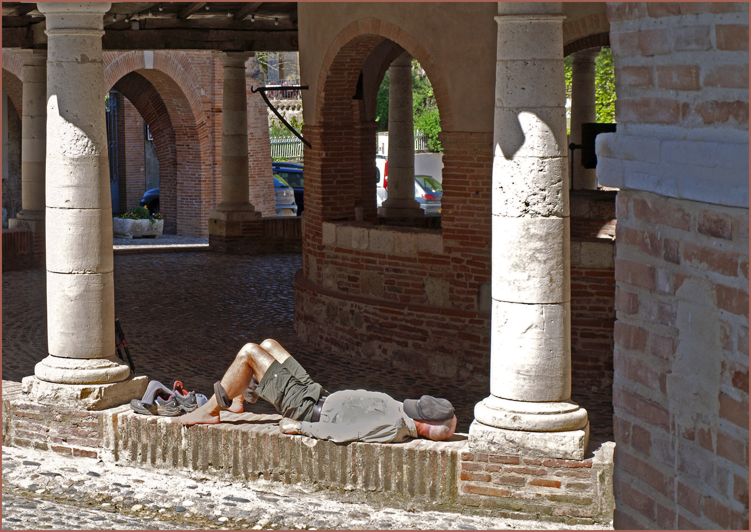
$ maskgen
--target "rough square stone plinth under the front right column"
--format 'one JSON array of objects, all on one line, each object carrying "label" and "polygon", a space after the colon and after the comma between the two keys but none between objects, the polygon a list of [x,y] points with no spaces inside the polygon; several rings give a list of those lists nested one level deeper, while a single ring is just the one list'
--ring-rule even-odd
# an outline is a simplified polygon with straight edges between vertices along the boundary
[{"label": "rough square stone plinth under the front right column", "polygon": [[575,431],[514,431],[483,425],[476,419],[469,425],[469,449],[502,455],[584,460],[590,439],[590,423]]}]

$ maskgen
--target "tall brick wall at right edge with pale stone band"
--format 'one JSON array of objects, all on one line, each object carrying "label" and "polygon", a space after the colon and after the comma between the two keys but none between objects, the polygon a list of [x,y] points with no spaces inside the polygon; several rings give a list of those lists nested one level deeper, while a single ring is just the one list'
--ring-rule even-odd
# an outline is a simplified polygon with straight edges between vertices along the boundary
[{"label": "tall brick wall at right edge with pale stone band", "polygon": [[748,4],[611,3],[616,526],[747,528]]}]

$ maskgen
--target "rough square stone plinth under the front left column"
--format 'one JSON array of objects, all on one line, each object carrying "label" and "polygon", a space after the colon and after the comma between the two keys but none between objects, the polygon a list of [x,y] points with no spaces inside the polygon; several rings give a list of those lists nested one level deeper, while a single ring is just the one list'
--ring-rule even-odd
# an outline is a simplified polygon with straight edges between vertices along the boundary
[{"label": "rough square stone plinth under the front left column", "polygon": [[139,375],[118,383],[109,384],[62,384],[49,383],[34,375],[21,380],[24,393],[39,404],[65,406],[78,410],[106,410],[140,399],[146,392],[149,377]]}]

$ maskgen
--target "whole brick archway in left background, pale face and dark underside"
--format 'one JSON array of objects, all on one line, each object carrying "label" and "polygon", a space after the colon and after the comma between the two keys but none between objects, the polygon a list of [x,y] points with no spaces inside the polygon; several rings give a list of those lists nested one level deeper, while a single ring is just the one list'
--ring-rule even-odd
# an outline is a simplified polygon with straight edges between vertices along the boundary
[{"label": "whole brick archway in left background, pale face and dark underside", "polygon": [[[148,87],[143,82],[147,82],[154,89],[153,92],[147,93],[146,100],[137,95],[129,98],[126,92],[120,92],[123,92],[137,108],[136,101],[140,102],[139,105],[144,111],[139,109],[139,113],[144,119],[146,119],[144,113],[161,117],[155,125],[167,134],[167,140],[171,137],[174,139],[173,148],[169,143],[161,146],[167,167],[168,181],[165,185],[170,185],[165,187],[167,193],[165,216],[173,205],[177,234],[207,236],[209,211],[214,199],[210,164],[210,134],[204,117],[209,101],[208,97],[202,97],[198,93],[196,87],[201,86],[203,80],[189,65],[189,58],[182,58],[182,54],[105,53],[104,80],[105,87],[111,87],[128,74],[136,72],[143,81],[138,80],[136,83],[135,77],[129,78],[131,81],[145,89]],[[181,61],[181,59],[185,60]],[[163,104],[163,109],[158,101]],[[166,115],[162,113],[164,110],[166,110]],[[168,119],[169,125],[165,118]],[[146,121],[148,122],[148,119]],[[168,131],[172,133],[167,133]],[[157,149],[159,150],[159,147]],[[172,149],[175,153],[174,164],[170,160]],[[161,158],[159,163],[161,176]],[[170,179],[174,179],[173,185]],[[174,194],[174,199],[172,194]]]}]

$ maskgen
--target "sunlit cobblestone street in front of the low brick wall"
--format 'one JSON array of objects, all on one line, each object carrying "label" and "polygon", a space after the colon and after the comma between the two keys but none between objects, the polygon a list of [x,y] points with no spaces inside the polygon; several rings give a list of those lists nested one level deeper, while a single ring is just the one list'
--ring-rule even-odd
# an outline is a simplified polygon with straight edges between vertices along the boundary
[{"label": "sunlit cobblestone street in front of the low brick wall", "polygon": [[[559,529],[516,521],[344,500],[279,482],[209,479],[95,458],[3,447],[3,530],[504,530]],[[567,527],[596,530],[594,525]]]}]

